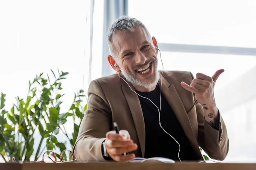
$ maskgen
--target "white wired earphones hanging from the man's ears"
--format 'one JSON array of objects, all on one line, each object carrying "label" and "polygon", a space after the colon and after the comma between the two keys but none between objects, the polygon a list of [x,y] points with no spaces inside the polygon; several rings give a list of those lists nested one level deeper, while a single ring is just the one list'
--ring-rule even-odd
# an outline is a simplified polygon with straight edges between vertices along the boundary
[{"label": "white wired earphones hanging from the man's ears", "polygon": [[[155,48],[157,48],[157,47],[155,46]],[[159,50],[159,48],[157,48],[157,50],[160,52],[160,59],[161,59],[162,66],[163,66],[161,51]],[[115,64],[114,64],[115,71],[116,71],[116,67],[118,67],[118,65],[115,63]],[[123,79],[117,72],[116,72],[116,74],[117,74],[121,79]],[[152,102],[152,103],[155,105],[155,107],[157,108],[158,113],[159,113],[158,123],[159,123],[160,127],[163,129],[163,131],[164,131],[165,133],[167,133],[169,136],[171,136],[172,139],[174,139],[175,142],[179,145],[178,158],[179,158],[179,160],[180,160],[180,144],[179,144],[179,142],[177,142],[177,140],[176,140],[172,135],[170,135],[168,132],[166,132],[166,130],[164,130],[164,128],[162,127],[161,122],[160,122],[161,99],[162,99],[162,79],[163,79],[163,70],[162,70],[162,74],[161,74],[161,86],[160,86],[160,109],[157,107],[157,105],[154,104],[154,102],[152,102],[152,101],[151,101],[150,99],[148,99],[147,97],[143,97],[143,96],[141,96],[140,94],[137,94],[136,91],[134,91],[134,90],[130,87],[130,85],[128,84],[128,82],[126,82],[125,79],[123,79],[123,80],[124,80],[124,81],[126,82],[126,84],[129,86],[129,88],[131,88],[131,91],[133,91],[134,93],[136,93],[138,96],[140,96],[140,97],[142,97],[142,98],[148,99],[150,102]],[[180,160],[180,162],[182,163],[181,160]]]}]

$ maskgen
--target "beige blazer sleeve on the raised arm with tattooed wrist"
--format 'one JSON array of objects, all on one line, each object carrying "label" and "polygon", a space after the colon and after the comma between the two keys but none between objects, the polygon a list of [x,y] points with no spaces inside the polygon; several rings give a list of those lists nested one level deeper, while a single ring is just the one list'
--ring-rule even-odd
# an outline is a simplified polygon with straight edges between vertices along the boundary
[{"label": "beige blazer sleeve on the raised arm with tattooed wrist", "polygon": [[[192,79],[194,76],[190,72]],[[194,94],[195,99],[195,94]],[[227,128],[218,110],[218,130],[211,127],[204,118],[204,109],[195,99],[198,118],[198,144],[209,155],[216,160],[224,160],[229,150],[229,139]]]}]

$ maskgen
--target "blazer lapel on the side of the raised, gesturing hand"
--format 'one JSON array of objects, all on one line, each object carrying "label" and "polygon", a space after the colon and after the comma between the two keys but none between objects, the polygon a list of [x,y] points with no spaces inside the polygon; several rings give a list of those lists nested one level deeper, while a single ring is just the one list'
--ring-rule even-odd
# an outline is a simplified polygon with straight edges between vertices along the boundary
[{"label": "blazer lapel on the side of the raised, gesturing hand", "polygon": [[[161,81],[158,84],[161,85],[160,83]],[[172,107],[172,110],[179,120],[180,125],[182,126],[184,133],[188,137],[192,147],[195,149],[198,156],[202,156],[180,96],[177,93],[175,86],[173,84],[170,85],[165,78],[162,79],[162,92],[169,105]]]}]

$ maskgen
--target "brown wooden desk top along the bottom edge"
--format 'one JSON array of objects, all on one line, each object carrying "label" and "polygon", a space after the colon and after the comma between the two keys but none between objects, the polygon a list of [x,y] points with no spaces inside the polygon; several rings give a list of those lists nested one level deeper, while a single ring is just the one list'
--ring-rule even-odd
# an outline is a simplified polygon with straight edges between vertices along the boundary
[{"label": "brown wooden desk top along the bottom edge", "polygon": [[256,170],[256,164],[227,163],[27,163],[0,164],[0,170]]}]

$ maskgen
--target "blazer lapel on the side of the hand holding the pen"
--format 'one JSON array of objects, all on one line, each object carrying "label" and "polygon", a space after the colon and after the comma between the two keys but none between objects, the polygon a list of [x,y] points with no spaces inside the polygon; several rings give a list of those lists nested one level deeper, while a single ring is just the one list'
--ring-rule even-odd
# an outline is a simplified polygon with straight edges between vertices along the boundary
[{"label": "blazer lapel on the side of the hand holding the pen", "polygon": [[[128,84],[131,88],[129,88]],[[140,142],[140,149],[142,153],[142,157],[144,158],[145,154],[145,124],[143,112],[140,106],[140,100],[136,93],[134,93],[135,89],[130,82],[125,82],[121,79],[122,91],[127,100],[128,106],[131,110],[131,115],[134,120],[134,125],[137,131],[137,136]],[[133,91],[132,91],[132,90]]]}]

